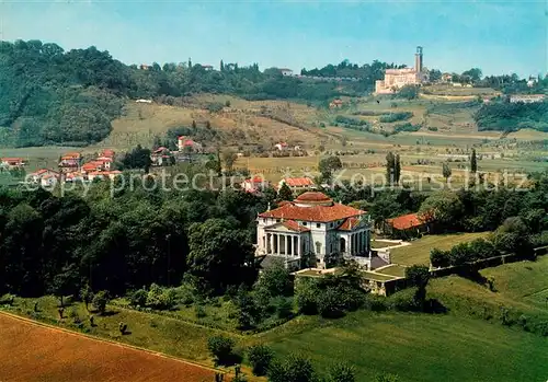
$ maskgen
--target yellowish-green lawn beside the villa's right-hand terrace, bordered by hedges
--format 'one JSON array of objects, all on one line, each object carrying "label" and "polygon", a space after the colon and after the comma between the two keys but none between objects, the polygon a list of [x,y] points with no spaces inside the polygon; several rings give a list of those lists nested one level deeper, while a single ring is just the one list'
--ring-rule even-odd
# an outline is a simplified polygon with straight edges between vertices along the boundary
[{"label": "yellowish-green lawn beside the villa's right-hand terrace, bordered by hedges", "polygon": [[429,265],[431,250],[450,250],[455,244],[484,238],[488,234],[489,232],[425,235],[411,242],[411,245],[391,250],[391,262],[401,265]]}]

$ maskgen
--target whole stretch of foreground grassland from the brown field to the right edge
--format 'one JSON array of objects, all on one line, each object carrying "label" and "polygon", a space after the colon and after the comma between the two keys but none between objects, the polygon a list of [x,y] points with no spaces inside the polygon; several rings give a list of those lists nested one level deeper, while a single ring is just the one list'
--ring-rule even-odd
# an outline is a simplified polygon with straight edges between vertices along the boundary
[{"label": "whole stretch of foreground grassland from the brown field to the right edge", "polygon": [[[76,309],[90,334],[206,364],[212,364],[207,338],[225,334],[239,349],[265,343],[278,357],[300,352],[310,357],[321,373],[333,362],[349,362],[356,368],[357,381],[367,382],[379,372],[389,372],[403,382],[544,382],[548,375],[548,337],[527,333],[515,324],[503,326],[496,312],[505,306],[548,322],[541,294],[548,288],[548,256],[483,269],[481,274],[494,279],[495,292],[456,276],[431,280],[427,297],[444,304],[448,314],[357,311],[339,320],[298,316],[269,332],[242,336],[118,306],[110,306],[105,316],[95,314],[96,326],[90,327],[89,313],[77,303],[66,309],[60,324],[69,325]],[[16,313],[32,315],[34,300],[16,299],[15,305]],[[41,320],[58,324],[56,305],[54,298],[42,298]],[[481,316],[486,308],[491,309],[493,317]],[[119,322],[128,324],[130,335],[119,335]],[[249,375],[249,369],[246,372]]]}]

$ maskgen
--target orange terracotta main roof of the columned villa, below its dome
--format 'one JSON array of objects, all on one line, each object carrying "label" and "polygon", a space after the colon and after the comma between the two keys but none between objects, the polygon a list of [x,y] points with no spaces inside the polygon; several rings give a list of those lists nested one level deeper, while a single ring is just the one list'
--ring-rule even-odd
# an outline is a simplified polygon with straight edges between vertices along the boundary
[{"label": "orange terracotta main roof of the columned villa, below its dome", "polygon": [[332,204],[331,206],[306,207],[296,206],[295,202],[286,202],[285,205],[276,209],[260,213],[259,217],[328,222],[359,216],[362,213],[365,212],[336,202]]}]

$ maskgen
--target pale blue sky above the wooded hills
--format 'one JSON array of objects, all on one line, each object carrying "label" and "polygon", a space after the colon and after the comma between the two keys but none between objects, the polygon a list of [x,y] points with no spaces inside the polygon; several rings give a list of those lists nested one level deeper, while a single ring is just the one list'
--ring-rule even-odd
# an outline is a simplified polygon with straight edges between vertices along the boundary
[{"label": "pale blue sky above the wooded hills", "polygon": [[0,0],[0,39],[96,46],[125,63],[258,62],[299,71],[378,59],[548,72],[548,1]]}]

